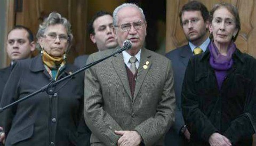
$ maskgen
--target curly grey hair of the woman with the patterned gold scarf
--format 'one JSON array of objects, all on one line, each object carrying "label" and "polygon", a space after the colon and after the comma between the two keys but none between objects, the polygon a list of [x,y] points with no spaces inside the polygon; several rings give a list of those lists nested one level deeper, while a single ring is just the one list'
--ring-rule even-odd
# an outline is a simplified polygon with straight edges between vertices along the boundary
[{"label": "curly grey hair of the woman with the patterned gold scarf", "polygon": [[[39,25],[39,28],[38,28],[38,31],[37,31],[37,34],[36,34],[36,38],[38,40],[39,37],[42,37],[44,35],[45,30],[46,30],[47,27],[53,26],[53,25],[59,25],[59,24],[63,25],[67,30],[67,33],[68,33],[68,50],[69,50],[69,48],[72,45],[71,42],[73,40],[71,25],[65,17],[62,17],[57,12],[50,13],[49,16],[44,19],[44,22]],[[36,44],[36,47],[39,50],[42,50],[41,46],[38,43]]]}]

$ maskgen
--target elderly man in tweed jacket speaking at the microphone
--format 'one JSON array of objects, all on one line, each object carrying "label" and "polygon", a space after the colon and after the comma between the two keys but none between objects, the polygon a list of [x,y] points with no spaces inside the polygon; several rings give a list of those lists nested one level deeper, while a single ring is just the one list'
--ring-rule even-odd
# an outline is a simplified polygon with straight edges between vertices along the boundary
[{"label": "elderly man in tweed jacket speaking at the microphone", "polygon": [[[163,145],[174,121],[171,61],[143,48],[147,23],[135,4],[118,6],[114,27],[119,46],[132,48],[85,71],[84,116],[91,145]],[[89,56],[98,60],[116,51]]]}]

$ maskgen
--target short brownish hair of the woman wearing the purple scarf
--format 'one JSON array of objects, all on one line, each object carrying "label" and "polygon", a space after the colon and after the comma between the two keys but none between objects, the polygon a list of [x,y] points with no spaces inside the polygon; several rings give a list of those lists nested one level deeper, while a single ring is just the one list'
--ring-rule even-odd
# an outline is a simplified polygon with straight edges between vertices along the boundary
[{"label": "short brownish hair of the woman wearing the purple scarf", "polygon": [[[241,29],[241,22],[240,22],[240,17],[239,17],[239,13],[238,13],[238,10],[237,8],[232,5],[232,4],[229,4],[229,3],[219,3],[219,4],[215,4],[213,7],[212,7],[212,10],[210,12],[210,22],[212,23],[212,19],[213,19],[213,14],[216,10],[218,10],[220,7],[225,7],[233,16],[234,18],[236,19],[236,28],[237,28],[237,34],[235,37],[232,37],[232,40],[235,42],[237,36],[238,36],[238,33]],[[212,34],[210,35],[211,37]]]}]

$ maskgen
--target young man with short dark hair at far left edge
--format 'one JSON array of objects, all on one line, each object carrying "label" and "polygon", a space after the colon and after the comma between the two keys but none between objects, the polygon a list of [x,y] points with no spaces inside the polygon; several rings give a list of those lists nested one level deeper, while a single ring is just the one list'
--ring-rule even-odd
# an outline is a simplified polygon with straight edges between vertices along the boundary
[{"label": "young man with short dark hair at far left edge", "polygon": [[[9,78],[9,75],[11,74],[13,64],[17,60],[29,58],[31,52],[33,52],[34,50],[35,42],[33,33],[30,29],[24,26],[15,26],[14,28],[12,28],[11,31],[9,31],[7,35],[6,52],[8,57],[11,59],[11,64],[6,68],[0,69],[0,101],[4,86],[7,82],[7,79]],[[1,125],[2,121],[0,118],[0,129],[2,129]],[[3,134],[0,135],[0,142],[3,139],[3,136]]]}]

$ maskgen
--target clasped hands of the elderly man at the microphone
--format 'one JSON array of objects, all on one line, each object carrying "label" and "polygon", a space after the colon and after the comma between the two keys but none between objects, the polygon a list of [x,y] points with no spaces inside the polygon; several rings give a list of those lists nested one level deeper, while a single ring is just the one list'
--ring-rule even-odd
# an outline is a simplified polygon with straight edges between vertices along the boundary
[{"label": "clasped hands of the elderly man at the microphone", "polygon": [[117,141],[117,145],[139,145],[142,141],[137,131],[115,131],[115,134],[122,135]]}]

